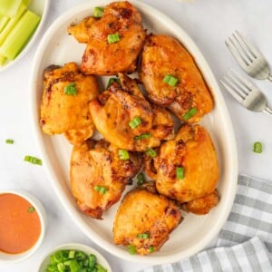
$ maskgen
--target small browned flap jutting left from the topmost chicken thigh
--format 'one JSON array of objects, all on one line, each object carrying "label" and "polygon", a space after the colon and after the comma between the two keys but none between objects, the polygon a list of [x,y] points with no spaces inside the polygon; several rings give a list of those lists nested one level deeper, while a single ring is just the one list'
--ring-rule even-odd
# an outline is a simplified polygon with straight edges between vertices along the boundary
[{"label": "small browned flap jutting left from the topmost chicken thigh", "polygon": [[83,18],[83,20],[78,24],[70,24],[67,28],[67,33],[73,35],[73,37],[81,44],[87,44],[90,39],[90,28],[91,25],[96,22],[92,16]]}]

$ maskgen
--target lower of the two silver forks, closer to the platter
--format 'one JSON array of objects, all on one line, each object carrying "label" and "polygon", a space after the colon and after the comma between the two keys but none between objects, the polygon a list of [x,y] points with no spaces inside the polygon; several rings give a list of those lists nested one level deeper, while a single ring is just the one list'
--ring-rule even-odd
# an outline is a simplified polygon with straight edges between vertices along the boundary
[{"label": "lower of the two silver forks, closer to the platter", "polygon": [[266,112],[272,116],[272,110],[267,107],[265,95],[254,84],[241,77],[238,73],[230,70],[220,82],[248,110]]}]

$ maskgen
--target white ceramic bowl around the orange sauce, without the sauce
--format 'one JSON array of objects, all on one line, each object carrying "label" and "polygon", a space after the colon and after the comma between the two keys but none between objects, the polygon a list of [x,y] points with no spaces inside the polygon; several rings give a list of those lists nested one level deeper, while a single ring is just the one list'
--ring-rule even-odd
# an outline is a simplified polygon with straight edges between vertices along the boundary
[{"label": "white ceramic bowl around the orange sauce, without the sauce", "polygon": [[17,262],[24,260],[27,257],[30,257],[34,254],[34,252],[42,245],[44,234],[45,234],[45,228],[46,228],[46,213],[43,204],[39,199],[34,197],[34,195],[24,191],[24,190],[0,190],[0,195],[2,194],[15,194],[19,197],[22,197],[23,199],[26,199],[36,210],[40,222],[41,222],[41,233],[37,241],[35,242],[34,246],[32,248],[29,248],[28,250],[19,253],[19,254],[9,254],[0,251],[0,262]]}]

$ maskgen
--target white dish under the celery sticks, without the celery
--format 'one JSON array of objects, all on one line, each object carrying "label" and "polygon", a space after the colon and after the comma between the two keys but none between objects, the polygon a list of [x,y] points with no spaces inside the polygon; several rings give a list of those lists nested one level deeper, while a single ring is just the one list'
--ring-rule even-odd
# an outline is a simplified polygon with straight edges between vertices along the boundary
[{"label": "white dish under the celery sticks, without the celery", "polygon": [[24,45],[23,50],[15,57],[15,59],[13,61],[8,61],[7,63],[5,63],[4,66],[0,66],[0,73],[5,71],[7,68],[15,65],[15,63],[18,63],[24,57],[24,55],[29,51],[31,46],[34,44],[38,35],[41,33],[41,30],[44,28],[44,22],[45,22],[45,18],[47,16],[47,14],[48,14],[49,4],[50,4],[50,0],[33,0],[33,1],[31,1],[28,8],[31,11],[33,11],[35,14],[40,15],[41,21],[40,21],[39,25],[37,26],[37,28],[35,29],[32,37],[29,39],[27,44]]}]

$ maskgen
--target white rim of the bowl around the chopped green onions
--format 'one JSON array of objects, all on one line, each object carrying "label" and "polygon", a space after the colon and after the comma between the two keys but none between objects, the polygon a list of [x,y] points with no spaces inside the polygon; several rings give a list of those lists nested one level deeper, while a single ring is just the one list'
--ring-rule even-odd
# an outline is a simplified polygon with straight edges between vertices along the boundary
[{"label": "white rim of the bowl around the chopped green onions", "polygon": [[64,244],[64,245],[59,246],[57,248],[53,248],[44,257],[44,260],[41,263],[38,272],[44,272],[46,269],[46,266],[49,265],[49,263],[50,263],[50,256],[53,255],[53,253],[56,252],[57,250],[63,250],[63,249],[78,250],[78,251],[83,251],[86,254],[93,254],[96,257],[97,263],[99,265],[101,265],[102,267],[107,269],[107,272],[112,272],[112,268],[110,267],[108,261],[105,259],[105,257],[102,256],[101,253],[99,253],[94,248],[91,248],[91,247],[83,245],[83,244],[78,244],[78,243]]}]

